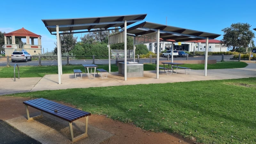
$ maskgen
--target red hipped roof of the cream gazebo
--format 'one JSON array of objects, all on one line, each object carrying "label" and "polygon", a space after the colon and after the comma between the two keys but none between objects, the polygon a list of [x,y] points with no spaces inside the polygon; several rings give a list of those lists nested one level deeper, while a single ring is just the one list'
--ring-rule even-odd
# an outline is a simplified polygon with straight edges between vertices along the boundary
[{"label": "red hipped roof of the cream gazebo", "polygon": [[37,35],[25,28],[20,28],[18,30],[6,33],[4,34],[4,36],[15,36],[15,37],[21,37],[21,38],[26,38],[26,36],[29,36],[30,38],[41,37],[40,35]]}]

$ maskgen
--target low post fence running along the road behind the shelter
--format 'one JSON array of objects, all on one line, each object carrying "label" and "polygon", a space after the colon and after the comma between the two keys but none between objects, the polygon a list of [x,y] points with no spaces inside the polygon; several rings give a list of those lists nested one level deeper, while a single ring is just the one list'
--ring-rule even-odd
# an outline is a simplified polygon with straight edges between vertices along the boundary
[{"label": "low post fence running along the road behind the shelter", "polygon": [[[14,66],[16,63],[19,66],[57,66],[58,60],[57,56],[33,56],[31,61],[28,62],[12,62],[11,57],[0,57],[0,66]],[[123,60],[124,57],[113,56],[110,60],[111,64],[115,64],[116,60]],[[204,55],[189,55],[188,57],[177,57],[173,60],[204,60]],[[133,57],[127,55],[127,60],[133,61]],[[171,60],[171,58],[163,58],[159,56],[159,60]],[[217,60],[217,61],[239,61],[239,60],[248,60],[241,59],[240,55],[208,55],[208,60]],[[254,60],[254,59],[252,59]],[[149,58],[140,58],[139,55],[136,55],[136,62],[140,63],[154,63],[156,61],[156,55],[150,55]],[[62,65],[82,65],[82,64],[108,64],[108,56],[63,56],[61,57]]]}]

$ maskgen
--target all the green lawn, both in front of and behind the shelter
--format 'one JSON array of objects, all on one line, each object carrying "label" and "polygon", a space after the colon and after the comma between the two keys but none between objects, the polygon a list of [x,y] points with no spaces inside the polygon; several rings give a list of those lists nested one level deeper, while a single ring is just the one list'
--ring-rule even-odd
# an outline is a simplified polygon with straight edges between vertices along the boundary
[{"label": "all the green lawn, both in front of and behind the shelter", "polygon": [[[246,65],[243,62],[220,62],[215,66],[208,65],[208,69],[242,68]],[[155,66],[146,64],[144,70],[154,70]],[[38,70],[38,73],[45,75],[46,71],[53,71],[57,74],[57,67],[46,70],[48,67]],[[99,67],[108,69],[106,65]],[[112,65],[111,71],[115,67]],[[201,65],[184,67],[196,69]],[[28,73],[35,73],[37,67],[33,68],[24,67],[26,72],[23,74],[32,75]],[[83,67],[63,66],[63,73],[73,73],[72,69]],[[0,68],[1,75],[3,70],[9,69]],[[13,75],[13,68],[9,72]],[[64,101],[92,114],[107,115],[148,131],[177,133],[200,143],[256,143],[255,89],[254,77],[45,90],[6,96]]]}]

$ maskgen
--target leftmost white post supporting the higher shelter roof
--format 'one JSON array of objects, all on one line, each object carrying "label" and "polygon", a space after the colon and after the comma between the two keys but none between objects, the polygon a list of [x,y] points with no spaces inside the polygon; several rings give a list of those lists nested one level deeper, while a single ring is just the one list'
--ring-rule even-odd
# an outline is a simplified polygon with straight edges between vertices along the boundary
[{"label": "leftmost white post supporting the higher shelter roof", "polygon": [[56,26],[56,32],[57,32],[57,56],[58,56],[58,78],[59,83],[61,84],[61,49],[60,49],[60,34],[59,34],[59,25]]}]

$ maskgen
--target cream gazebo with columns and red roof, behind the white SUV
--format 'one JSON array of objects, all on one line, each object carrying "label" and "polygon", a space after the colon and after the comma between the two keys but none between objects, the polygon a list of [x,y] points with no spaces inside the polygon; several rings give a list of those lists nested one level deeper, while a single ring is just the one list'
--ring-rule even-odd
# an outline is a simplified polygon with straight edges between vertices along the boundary
[{"label": "cream gazebo with columns and red roof, behind the white SUV", "polygon": [[[19,44],[15,43],[15,38],[19,39]],[[22,44],[21,38],[26,38],[26,42],[23,42],[25,44]],[[34,39],[37,39],[37,45],[34,43]],[[31,55],[42,53],[41,36],[21,28],[4,34],[4,48],[6,56],[11,56],[13,51],[22,50],[27,51]]]}]

